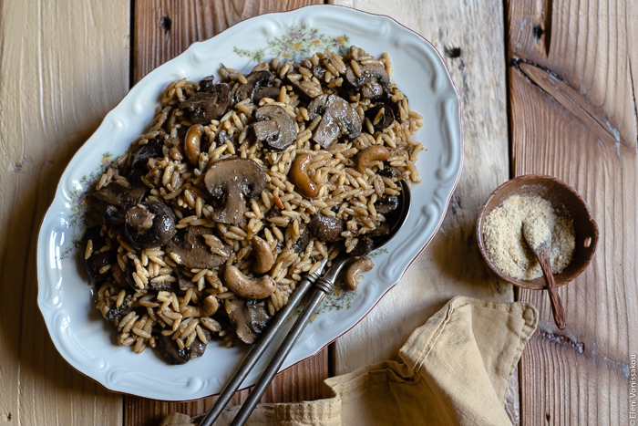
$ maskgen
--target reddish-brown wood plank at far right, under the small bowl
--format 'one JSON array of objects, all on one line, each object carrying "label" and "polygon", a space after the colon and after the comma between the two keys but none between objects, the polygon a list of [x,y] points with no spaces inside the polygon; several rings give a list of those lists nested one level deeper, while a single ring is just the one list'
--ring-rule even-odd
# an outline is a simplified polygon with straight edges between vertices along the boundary
[{"label": "reddish-brown wood plank at far right, under the small bowl", "polygon": [[547,55],[534,47],[534,7],[508,3],[514,172],[575,187],[600,239],[592,265],[558,290],[564,332],[544,293],[520,291],[541,316],[520,362],[521,421],[629,424],[628,363],[638,351],[636,5],[554,1]]}]

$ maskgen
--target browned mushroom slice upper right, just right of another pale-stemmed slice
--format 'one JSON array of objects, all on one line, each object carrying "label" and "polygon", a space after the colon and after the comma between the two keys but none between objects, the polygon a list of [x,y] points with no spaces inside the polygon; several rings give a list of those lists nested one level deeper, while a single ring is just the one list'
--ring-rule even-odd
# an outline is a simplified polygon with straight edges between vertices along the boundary
[{"label": "browned mushroom slice upper right, just right of another pale-stemmed slice", "polygon": [[323,148],[340,136],[355,139],[361,134],[361,119],[356,110],[345,99],[336,95],[321,95],[308,105],[308,116],[314,119],[323,114],[321,122],[314,130],[313,140]]}]

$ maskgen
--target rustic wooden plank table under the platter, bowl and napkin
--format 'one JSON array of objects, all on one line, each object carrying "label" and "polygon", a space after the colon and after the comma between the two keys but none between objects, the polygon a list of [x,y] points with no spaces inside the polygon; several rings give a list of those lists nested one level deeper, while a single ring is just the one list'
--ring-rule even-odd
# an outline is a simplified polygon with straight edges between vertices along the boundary
[{"label": "rustic wooden plank table under the platter, bowl and napkin", "polygon": [[[171,410],[196,415],[211,406],[212,398],[165,403],[114,394],[67,366],[36,307],[38,226],[67,161],[139,78],[243,19],[314,3],[323,2],[0,2],[0,423],[150,426]],[[464,170],[445,223],[401,283],[330,348],[280,374],[263,400],[314,399],[331,375],[397,358],[415,327],[450,297],[467,295],[540,309],[512,377],[512,421],[631,424],[638,3],[331,3],[392,16],[444,54],[462,100]],[[517,293],[489,271],[474,237],[489,192],[532,172],[574,186],[600,228],[592,265],[559,290],[564,332],[545,294]]]}]

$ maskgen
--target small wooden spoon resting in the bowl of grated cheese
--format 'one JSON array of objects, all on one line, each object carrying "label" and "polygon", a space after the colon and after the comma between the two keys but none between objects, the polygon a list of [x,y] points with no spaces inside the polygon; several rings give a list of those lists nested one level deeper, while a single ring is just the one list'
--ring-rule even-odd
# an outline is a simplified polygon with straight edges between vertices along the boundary
[{"label": "small wooden spoon resting in the bowl of grated cheese", "polygon": [[559,329],[564,330],[566,327],[565,308],[562,306],[561,297],[558,295],[558,289],[554,281],[554,275],[551,272],[550,228],[547,223],[542,222],[539,218],[529,218],[523,221],[523,236],[539,260],[545,285],[550,294],[551,312],[554,316],[554,322]]}]

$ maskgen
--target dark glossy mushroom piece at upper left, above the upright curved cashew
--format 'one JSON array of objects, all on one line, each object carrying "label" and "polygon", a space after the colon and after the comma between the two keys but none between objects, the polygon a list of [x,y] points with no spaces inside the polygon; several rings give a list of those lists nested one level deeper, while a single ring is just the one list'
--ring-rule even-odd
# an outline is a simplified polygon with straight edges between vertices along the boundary
[{"label": "dark glossy mushroom piece at upper left, above the upright curved cashew", "polygon": [[209,124],[212,119],[221,119],[231,106],[231,87],[226,83],[213,84],[205,92],[195,92],[181,104],[181,109],[190,111],[190,121]]}]

